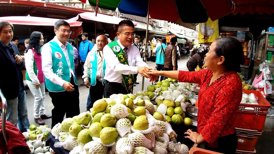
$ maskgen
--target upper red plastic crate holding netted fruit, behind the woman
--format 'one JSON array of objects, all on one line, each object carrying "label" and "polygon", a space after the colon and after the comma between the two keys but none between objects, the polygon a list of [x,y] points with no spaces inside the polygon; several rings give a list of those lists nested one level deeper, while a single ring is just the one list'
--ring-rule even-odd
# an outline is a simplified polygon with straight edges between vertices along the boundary
[{"label": "upper red plastic crate holding netted fruit, behind the woman", "polygon": [[254,93],[259,97],[258,104],[240,104],[239,111],[235,114],[235,127],[262,131],[270,104],[257,90],[243,90],[243,92]]}]

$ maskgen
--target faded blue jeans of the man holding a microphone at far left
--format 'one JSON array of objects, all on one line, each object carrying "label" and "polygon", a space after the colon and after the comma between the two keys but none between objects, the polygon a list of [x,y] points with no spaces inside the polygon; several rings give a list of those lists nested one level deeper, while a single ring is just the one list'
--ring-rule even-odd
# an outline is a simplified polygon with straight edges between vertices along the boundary
[{"label": "faded blue jeans of the man holding a microphone at far left", "polygon": [[17,98],[7,100],[7,121],[10,121],[16,127],[19,127],[21,132],[25,132],[29,129],[30,124],[25,90],[21,90]]}]

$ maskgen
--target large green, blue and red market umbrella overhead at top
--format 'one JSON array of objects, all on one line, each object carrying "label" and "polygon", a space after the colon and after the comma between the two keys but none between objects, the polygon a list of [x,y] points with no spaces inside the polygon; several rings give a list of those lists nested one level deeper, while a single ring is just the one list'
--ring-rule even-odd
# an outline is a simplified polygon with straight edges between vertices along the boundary
[{"label": "large green, blue and red market umbrella overhead at top", "polygon": [[[97,4],[97,0],[88,1],[92,6]],[[99,0],[98,7],[112,11],[118,7],[121,13],[146,17],[148,2],[148,0],[143,0],[140,3],[132,0]],[[185,23],[204,23],[208,17],[214,21],[231,13],[234,9],[231,0],[150,0],[150,17],[152,19],[170,21],[182,26]],[[195,26],[192,25],[189,28],[195,29]]]}]

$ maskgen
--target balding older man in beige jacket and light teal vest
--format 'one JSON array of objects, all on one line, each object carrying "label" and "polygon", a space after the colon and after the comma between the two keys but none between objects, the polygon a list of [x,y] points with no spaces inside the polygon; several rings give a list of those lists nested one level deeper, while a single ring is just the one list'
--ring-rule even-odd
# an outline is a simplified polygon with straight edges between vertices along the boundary
[{"label": "balding older man in beige jacket and light teal vest", "polygon": [[[96,100],[103,98],[104,94],[104,80],[106,62],[104,60],[103,48],[108,44],[108,37],[105,35],[98,35],[96,38],[96,46],[94,46],[86,57],[84,64],[84,84],[89,88],[91,101],[87,102],[86,110],[92,108]],[[90,78],[90,82],[89,79]],[[91,85],[91,86],[90,86]]]}]

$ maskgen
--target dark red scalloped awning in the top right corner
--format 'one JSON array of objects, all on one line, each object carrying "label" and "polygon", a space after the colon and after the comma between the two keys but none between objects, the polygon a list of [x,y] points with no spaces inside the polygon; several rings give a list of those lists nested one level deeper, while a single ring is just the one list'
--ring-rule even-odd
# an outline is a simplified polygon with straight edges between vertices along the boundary
[{"label": "dark red scalloped awning in the top right corner", "polygon": [[232,12],[233,15],[238,13],[244,15],[249,13],[254,15],[258,13],[263,15],[272,15],[274,13],[274,1],[273,0],[233,0],[235,3],[235,10]]}]

